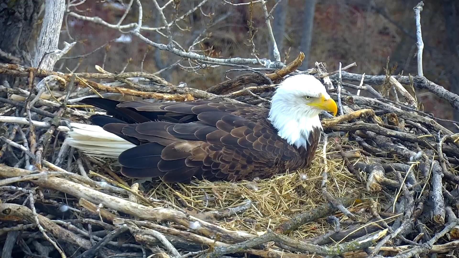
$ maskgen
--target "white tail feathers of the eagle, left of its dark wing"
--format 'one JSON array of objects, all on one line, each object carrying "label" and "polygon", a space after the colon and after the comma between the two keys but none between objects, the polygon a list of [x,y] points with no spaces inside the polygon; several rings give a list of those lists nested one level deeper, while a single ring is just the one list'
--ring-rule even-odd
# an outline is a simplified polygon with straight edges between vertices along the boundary
[{"label": "white tail feathers of the eagle, left of its dark wing", "polygon": [[85,154],[97,157],[117,158],[121,152],[135,145],[123,138],[107,132],[98,125],[70,123],[68,144]]}]

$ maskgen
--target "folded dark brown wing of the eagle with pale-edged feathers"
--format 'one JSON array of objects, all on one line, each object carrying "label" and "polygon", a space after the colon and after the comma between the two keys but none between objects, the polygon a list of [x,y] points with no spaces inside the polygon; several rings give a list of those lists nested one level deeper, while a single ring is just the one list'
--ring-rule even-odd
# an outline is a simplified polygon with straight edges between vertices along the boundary
[{"label": "folded dark brown wing of the eagle with pale-edged feathers", "polygon": [[[264,178],[298,157],[267,121],[268,109],[252,105],[190,101],[151,103],[87,98],[113,117],[90,120],[134,143],[118,157],[122,174],[162,176],[166,182]],[[304,159],[304,157],[303,157]]]}]

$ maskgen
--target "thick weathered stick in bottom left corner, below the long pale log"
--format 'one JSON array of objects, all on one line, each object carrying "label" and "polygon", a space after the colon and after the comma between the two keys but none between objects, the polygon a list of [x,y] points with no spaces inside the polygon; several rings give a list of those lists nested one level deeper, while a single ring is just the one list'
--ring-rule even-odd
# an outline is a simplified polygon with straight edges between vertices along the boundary
[{"label": "thick weathered stick in bottom left corner, below the long pale log", "polygon": [[[34,222],[34,214],[32,210],[29,208],[14,204],[14,203],[2,203],[0,204],[0,219],[6,217],[17,217],[22,219],[27,219],[30,222]],[[81,238],[74,234],[72,231],[66,230],[59,226],[58,224],[54,223],[50,219],[46,218],[38,214],[39,223],[43,226],[43,228],[51,233],[56,239],[66,241],[67,243],[77,245],[78,247],[82,247],[86,250],[90,249],[92,244],[89,240]],[[115,252],[104,249],[106,255],[115,255]]]}]

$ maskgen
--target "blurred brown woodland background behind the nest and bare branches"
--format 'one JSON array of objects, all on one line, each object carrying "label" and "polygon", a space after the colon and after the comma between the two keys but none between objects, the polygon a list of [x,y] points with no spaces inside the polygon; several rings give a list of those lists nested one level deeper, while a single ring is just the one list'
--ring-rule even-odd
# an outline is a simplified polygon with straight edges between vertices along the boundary
[{"label": "blurred brown woodland background behind the nest and bare branches", "polygon": [[[194,50],[213,57],[259,58],[274,60],[263,10],[250,0],[172,0],[164,13],[168,21],[184,16],[172,29],[174,40],[188,49],[196,40]],[[268,0],[270,11],[278,0]],[[348,72],[370,75],[385,74],[389,66],[393,74],[416,74],[416,42],[413,7],[419,0],[282,0],[274,9],[272,26],[282,62],[291,62],[299,51],[306,54],[301,69],[312,68],[314,62],[325,62],[329,72],[356,62]],[[80,15],[100,17],[117,24],[129,8],[130,0],[83,1],[72,7]],[[158,0],[163,6],[169,0]],[[141,1],[143,25],[160,27],[153,1]],[[424,75],[454,93],[459,93],[459,1],[425,0],[421,12],[424,39]],[[238,5],[242,4],[242,5]],[[196,11],[188,11],[196,8]],[[137,22],[136,2],[130,7],[123,24]],[[96,72],[97,64],[109,72],[145,71],[155,73],[173,84],[186,82],[188,86],[207,89],[225,80],[230,67],[207,67],[191,71],[186,62],[179,61],[167,51],[149,47],[123,32],[104,25],[67,15],[62,25],[62,41],[77,41],[77,45],[57,62],[56,70],[67,72]],[[167,44],[165,30],[143,31],[142,34],[158,43]],[[253,37],[253,40],[249,39]],[[234,78],[239,73],[227,76]],[[458,113],[435,95],[418,90],[418,99],[427,112],[439,118],[458,120]]]}]

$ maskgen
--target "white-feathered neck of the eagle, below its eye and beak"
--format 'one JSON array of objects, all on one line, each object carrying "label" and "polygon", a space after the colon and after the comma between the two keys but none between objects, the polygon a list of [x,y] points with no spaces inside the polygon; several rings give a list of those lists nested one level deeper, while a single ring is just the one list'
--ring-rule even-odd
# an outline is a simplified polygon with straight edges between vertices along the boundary
[{"label": "white-feathered neck of the eagle, below its eye and beak", "polygon": [[268,120],[277,129],[277,134],[288,144],[308,150],[311,141],[320,137],[311,137],[314,130],[322,130],[319,112],[302,103],[292,103],[292,100],[273,99]]}]

